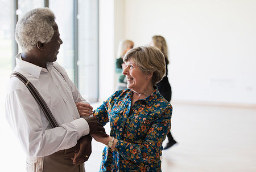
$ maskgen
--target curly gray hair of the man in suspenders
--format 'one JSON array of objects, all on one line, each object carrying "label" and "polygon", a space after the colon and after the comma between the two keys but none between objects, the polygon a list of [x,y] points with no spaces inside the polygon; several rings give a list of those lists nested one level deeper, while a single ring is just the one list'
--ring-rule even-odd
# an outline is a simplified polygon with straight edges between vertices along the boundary
[{"label": "curly gray hair of the man in suspenders", "polygon": [[23,51],[30,51],[37,42],[48,43],[54,34],[55,15],[49,8],[26,12],[16,24],[15,39]]}]

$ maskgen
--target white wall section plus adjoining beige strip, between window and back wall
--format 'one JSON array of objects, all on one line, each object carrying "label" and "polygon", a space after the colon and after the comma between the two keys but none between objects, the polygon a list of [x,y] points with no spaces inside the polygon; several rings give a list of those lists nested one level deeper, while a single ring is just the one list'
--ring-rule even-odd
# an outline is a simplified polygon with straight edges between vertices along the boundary
[{"label": "white wall section plus adjoining beige strip, between window and back wall", "polygon": [[125,39],[125,0],[100,0],[99,15],[99,102],[111,96],[116,88],[115,59],[119,41]]}]

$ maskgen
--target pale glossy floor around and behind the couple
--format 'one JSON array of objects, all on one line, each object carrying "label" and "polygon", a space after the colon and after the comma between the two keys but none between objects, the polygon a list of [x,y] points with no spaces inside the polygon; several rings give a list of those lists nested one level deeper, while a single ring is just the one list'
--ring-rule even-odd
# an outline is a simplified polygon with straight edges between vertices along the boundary
[{"label": "pale glossy floor around and behind the couple", "polygon": [[[256,109],[172,105],[171,132],[178,144],[163,151],[162,171],[256,171]],[[1,112],[1,167],[26,171],[25,156]],[[103,147],[93,141],[92,155],[85,163],[87,172],[98,171]]]}]

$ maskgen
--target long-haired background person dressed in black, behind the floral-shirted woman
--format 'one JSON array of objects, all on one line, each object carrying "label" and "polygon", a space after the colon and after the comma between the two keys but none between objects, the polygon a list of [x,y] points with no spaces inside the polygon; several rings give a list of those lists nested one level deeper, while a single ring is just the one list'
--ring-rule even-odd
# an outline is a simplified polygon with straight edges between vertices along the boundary
[{"label": "long-haired background person dressed in black, behind the floral-shirted woman", "polygon": [[[151,41],[150,45],[157,47],[164,54],[164,58],[165,58],[165,61],[166,61],[166,76],[164,76],[164,78],[158,84],[156,84],[156,86],[158,87],[158,91],[160,92],[160,94],[168,102],[170,102],[171,98],[172,98],[172,88],[171,88],[171,85],[169,83],[168,76],[167,76],[168,75],[167,65],[169,64],[169,61],[168,61],[168,55],[167,55],[168,54],[168,48],[167,48],[166,40],[162,36],[155,35],[155,36],[152,37],[152,41]],[[168,137],[168,143],[166,144],[166,146],[163,149],[168,149],[172,145],[177,143],[174,140],[174,137],[172,137],[171,131],[168,132],[167,137]]]}]

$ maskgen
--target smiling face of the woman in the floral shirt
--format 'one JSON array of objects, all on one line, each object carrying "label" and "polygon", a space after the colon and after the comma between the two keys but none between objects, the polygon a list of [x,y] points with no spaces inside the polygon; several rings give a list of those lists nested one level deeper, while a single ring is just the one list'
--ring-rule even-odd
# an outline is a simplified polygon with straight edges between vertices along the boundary
[{"label": "smiling face of the woman in the floral shirt", "polygon": [[127,61],[125,65],[123,75],[126,75],[127,88],[138,92],[141,88],[146,88],[147,85],[151,83],[149,75],[142,72],[141,68],[139,68],[132,59]]}]

